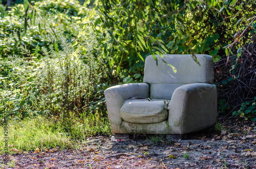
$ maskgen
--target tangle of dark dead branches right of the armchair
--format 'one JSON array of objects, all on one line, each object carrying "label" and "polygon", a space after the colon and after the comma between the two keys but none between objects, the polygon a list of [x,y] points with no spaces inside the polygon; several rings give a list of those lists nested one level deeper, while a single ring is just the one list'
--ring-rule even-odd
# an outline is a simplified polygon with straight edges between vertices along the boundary
[{"label": "tangle of dark dead branches right of the armchair", "polygon": [[[218,99],[225,99],[230,108],[256,96],[256,33],[247,36],[247,42],[243,44],[245,45],[242,46],[240,57],[237,54],[230,56],[229,59],[225,57],[214,66]],[[233,51],[238,48],[233,46]]]}]

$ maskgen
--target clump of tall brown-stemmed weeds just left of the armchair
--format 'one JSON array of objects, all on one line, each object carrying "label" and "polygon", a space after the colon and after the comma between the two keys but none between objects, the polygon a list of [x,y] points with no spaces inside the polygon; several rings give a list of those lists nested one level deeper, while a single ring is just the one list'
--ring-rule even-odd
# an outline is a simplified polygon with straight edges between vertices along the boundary
[{"label": "clump of tall brown-stemmed weeds just left of the armchair", "polygon": [[93,34],[81,38],[83,40],[74,50],[72,44],[62,37],[62,50],[56,51],[55,47],[44,58],[37,94],[41,98],[42,107],[45,107],[43,110],[50,111],[51,114],[75,111],[79,115],[82,111],[95,110],[103,99],[101,79],[106,69],[101,57],[101,47]]}]

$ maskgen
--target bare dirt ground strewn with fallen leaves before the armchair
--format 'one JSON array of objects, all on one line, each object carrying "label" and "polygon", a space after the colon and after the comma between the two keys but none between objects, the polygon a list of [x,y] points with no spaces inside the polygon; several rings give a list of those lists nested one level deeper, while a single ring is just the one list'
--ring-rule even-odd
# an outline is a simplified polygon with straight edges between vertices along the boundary
[{"label": "bare dirt ground strewn with fallen leaves before the armchair", "polygon": [[225,130],[193,133],[186,140],[134,135],[116,142],[99,135],[85,140],[79,150],[35,150],[9,159],[14,168],[256,168],[255,124],[228,121]]}]

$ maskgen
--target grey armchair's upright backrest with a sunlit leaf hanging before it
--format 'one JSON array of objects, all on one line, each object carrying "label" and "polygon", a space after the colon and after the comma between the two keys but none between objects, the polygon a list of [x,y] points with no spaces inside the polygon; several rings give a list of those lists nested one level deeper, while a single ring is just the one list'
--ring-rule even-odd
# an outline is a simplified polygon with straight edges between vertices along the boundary
[{"label": "grey armchair's upright backrest with a sunlit leaf hanging before it", "polygon": [[[152,99],[170,100],[174,90],[189,83],[212,83],[214,80],[214,62],[209,55],[195,55],[200,63],[196,63],[192,55],[156,55],[145,59],[144,83],[151,85]],[[176,69],[176,73],[174,72]]]}]

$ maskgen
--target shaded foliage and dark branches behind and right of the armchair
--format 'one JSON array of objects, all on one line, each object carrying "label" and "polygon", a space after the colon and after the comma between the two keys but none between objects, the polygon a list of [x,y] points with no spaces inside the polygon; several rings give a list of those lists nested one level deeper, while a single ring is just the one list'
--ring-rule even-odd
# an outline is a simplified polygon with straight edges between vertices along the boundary
[{"label": "shaded foliage and dark branches behind and right of the armchair", "polygon": [[105,53],[121,78],[130,77],[125,82],[142,79],[150,54],[208,54],[216,62],[220,112],[232,112],[254,98],[255,2],[101,2],[95,24],[110,36]]}]

